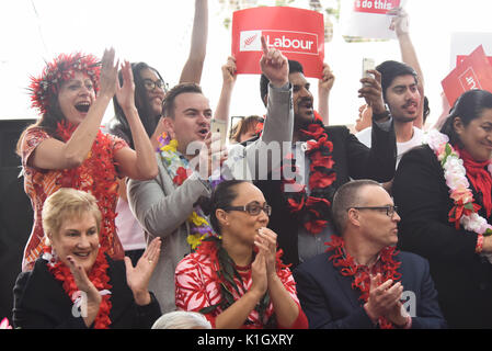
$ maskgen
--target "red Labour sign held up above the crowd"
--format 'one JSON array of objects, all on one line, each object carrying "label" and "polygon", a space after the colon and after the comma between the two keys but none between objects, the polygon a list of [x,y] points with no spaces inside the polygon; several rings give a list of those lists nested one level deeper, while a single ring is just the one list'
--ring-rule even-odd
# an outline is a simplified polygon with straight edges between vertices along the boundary
[{"label": "red Labour sign held up above the crowd", "polygon": [[236,11],[232,15],[232,55],[238,73],[261,73],[262,35],[270,47],[299,61],[306,77],[321,78],[324,60],[321,13],[286,7]]}]

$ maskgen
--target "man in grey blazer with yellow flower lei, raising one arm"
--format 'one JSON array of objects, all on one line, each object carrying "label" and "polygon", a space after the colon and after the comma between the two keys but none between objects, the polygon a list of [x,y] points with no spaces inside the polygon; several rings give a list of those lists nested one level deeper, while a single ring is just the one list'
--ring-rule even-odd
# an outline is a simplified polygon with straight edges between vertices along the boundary
[{"label": "man in grey blazer with yellow flower lei, raising one arm", "polygon": [[[215,143],[217,136],[210,133],[213,113],[201,87],[181,83],[163,101],[161,123],[167,134],[160,138],[157,154],[159,174],[150,181],[128,182],[131,212],[145,228],[148,240],[162,238],[161,258],[149,286],[156,292],[163,313],[175,309],[176,264],[211,234],[197,202],[201,196],[210,196],[216,181],[232,177],[233,171],[227,172],[225,167],[222,173],[221,166],[233,167],[237,158],[238,163],[254,169],[256,155],[264,145],[291,143],[294,113],[287,58],[277,49],[268,49],[262,41],[264,55],[260,66],[271,80],[270,121],[262,138],[247,147],[236,145],[226,152],[225,145]],[[220,177],[216,170],[220,170]]]}]

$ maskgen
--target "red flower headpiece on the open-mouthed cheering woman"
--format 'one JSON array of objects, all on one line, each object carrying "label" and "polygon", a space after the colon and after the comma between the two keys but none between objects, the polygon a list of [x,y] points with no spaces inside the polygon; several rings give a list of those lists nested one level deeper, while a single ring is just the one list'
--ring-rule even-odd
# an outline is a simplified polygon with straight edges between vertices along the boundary
[{"label": "red flower headpiece on the open-mouthed cheering woman", "polygon": [[31,106],[45,114],[49,109],[49,100],[58,93],[60,83],[72,78],[76,71],[88,75],[98,92],[101,71],[100,60],[93,55],[82,53],[60,54],[46,65],[39,77],[31,77],[28,87],[28,90],[31,90]]}]

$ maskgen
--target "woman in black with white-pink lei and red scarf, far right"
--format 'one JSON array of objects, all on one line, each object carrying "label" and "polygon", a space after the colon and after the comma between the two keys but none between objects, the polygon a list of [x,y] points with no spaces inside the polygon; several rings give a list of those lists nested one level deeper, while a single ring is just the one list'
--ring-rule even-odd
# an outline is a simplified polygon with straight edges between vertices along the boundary
[{"label": "woman in black with white-pink lei and red scarf, far right", "polygon": [[491,172],[492,93],[472,90],[394,177],[401,249],[430,261],[451,328],[492,328]]}]

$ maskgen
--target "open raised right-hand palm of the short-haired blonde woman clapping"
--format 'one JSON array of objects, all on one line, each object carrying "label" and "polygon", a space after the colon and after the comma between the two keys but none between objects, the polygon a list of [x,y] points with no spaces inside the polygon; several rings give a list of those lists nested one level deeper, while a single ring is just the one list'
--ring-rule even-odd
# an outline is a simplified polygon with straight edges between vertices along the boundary
[{"label": "open raised right-hand palm of the short-haired blonde woman clapping", "polygon": [[125,257],[126,281],[134,293],[135,302],[139,306],[150,304],[148,286],[150,276],[159,261],[160,252],[161,239],[157,237],[149,244],[135,268],[131,265],[131,260]]}]

